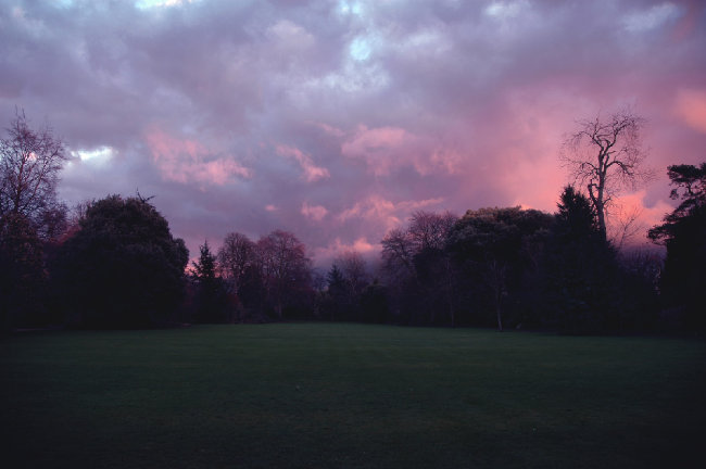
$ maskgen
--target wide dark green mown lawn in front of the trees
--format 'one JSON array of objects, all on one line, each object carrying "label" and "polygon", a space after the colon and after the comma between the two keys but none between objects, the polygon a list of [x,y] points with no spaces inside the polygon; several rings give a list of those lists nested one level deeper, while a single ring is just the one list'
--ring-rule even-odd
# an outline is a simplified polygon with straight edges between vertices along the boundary
[{"label": "wide dark green mown lawn in front of the trees", "polygon": [[27,333],[0,366],[8,468],[706,467],[696,340],[200,326]]}]

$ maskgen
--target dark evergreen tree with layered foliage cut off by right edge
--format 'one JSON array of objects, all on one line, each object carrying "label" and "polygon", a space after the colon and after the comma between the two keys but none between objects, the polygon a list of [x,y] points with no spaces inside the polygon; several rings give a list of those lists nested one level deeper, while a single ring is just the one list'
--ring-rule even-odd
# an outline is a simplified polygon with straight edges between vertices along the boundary
[{"label": "dark evergreen tree with layered foliage cut off by right edge", "polygon": [[661,275],[665,304],[683,309],[684,326],[706,329],[706,162],[699,166],[669,166],[676,186],[671,199],[681,200],[650,238],[667,248]]}]

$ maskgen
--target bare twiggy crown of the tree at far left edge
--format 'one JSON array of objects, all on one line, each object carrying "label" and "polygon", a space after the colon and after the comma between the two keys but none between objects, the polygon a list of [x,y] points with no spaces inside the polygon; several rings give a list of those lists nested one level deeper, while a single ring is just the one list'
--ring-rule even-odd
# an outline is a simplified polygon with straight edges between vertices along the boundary
[{"label": "bare twiggy crown of the tree at far left edge", "polygon": [[51,127],[29,128],[17,111],[0,139],[0,216],[22,215],[38,226],[55,210],[59,172],[67,160],[63,141]]}]

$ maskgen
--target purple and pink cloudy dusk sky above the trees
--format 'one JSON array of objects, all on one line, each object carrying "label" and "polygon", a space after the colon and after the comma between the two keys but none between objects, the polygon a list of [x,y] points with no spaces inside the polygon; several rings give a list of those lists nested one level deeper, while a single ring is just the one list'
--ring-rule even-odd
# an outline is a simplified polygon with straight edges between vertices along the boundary
[{"label": "purple and pink cloudy dusk sky above the trees", "polygon": [[630,106],[657,177],[621,206],[647,228],[667,166],[706,161],[705,7],[3,0],[0,125],[53,127],[70,205],[139,191],[194,257],[286,229],[325,266],[419,210],[554,212],[567,134]]}]

